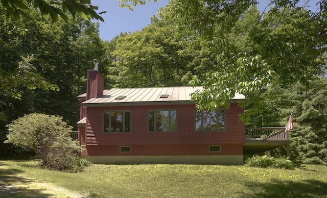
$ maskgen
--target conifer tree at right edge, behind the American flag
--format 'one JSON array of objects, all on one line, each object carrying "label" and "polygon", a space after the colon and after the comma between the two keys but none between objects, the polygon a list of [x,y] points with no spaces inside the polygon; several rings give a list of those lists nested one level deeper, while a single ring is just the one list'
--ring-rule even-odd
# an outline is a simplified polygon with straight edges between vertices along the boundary
[{"label": "conifer tree at right edge, behind the American flag", "polygon": [[294,130],[290,135],[301,160],[327,164],[327,79],[316,79],[309,89],[299,83],[284,94],[294,105]]}]

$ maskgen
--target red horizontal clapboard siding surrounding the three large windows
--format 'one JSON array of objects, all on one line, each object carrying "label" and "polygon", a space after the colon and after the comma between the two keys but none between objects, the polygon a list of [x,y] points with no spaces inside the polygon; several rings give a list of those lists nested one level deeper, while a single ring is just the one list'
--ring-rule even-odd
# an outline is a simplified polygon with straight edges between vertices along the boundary
[{"label": "red horizontal clapboard siding surrounding the three large windows", "polygon": [[[148,133],[147,113],[150,109],[177,109],[178,132],[176,133]],[[131,111],[131,133],[104,134],[102,133],[102,112],[108,110]],[[86,144],[87,145],[168,145],[176,144],[239,144],[245,143],[245,126],[239,121],[239,114],[243,109],[236,103],[226,110],[225,132],[195,132],[195,105],[156,105],[156,106],[115,106],[115,107],[87,107],[86,109]],[[187,135],[186,135],[187,133]],[[142,146],[141,146],[142,147]],[[153,146],[151,146],[153,147]],[[166,149],[169,146],[165,146]],[[100,148],[100,147],[99,147]],[[147,147],[146,150],[148,150]],[[97,149],[98,150],[98,149]],[[242,148],[241,148],[242,150]],[[180,150],[176,149],[176,153]],[[90,151],[89,151],[90,152]],[[99,152],[99,151],[98,151]],[[156,151],[158,153],[160,151]],[[92,152],[91,152],[92,153]],[[95,155],[95,153],[89,153]],[[189,152],[186,152],[189,153]],[[97,154],[98,155],[98,154]],[[141,155],[141,153],[139,153]],[[142,154],[143,155],[143,154]],[[159,154],[156,154],[159,155]],[[177,155],[177,154],[176,154]]]}]

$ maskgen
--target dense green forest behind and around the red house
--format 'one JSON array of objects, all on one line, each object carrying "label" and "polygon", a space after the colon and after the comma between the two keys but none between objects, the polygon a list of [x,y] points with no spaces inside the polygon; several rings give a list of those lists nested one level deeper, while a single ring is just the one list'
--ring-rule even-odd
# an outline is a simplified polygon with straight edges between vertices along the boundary
[{"label": "dense green forest behind and around the red house", "polygon": [[[59,115],[76,129],[77,95],[86,91],[86,71],[99,59],[105,89],[203,85],[203,95],[193,97],[199,108],[228,108],[228,98],[241,92],[247,100],[240,119],[248,127],[285,126],[294,107],[293,150],[305,163],[326,164],[326,35],[317,33],[325,30],[321,18],[315,21],[305,9],[276,7],[261,13],[250,6],[232,25],[196,24],[199,31],[194,32],[202,31],[198,35],[180,28],[170,15],[172,6],[174,2],[161,10],[161,18],[153,16],[142,31],[103,41],[98,22],[54,22],[36,9],[11,20],[0,5],[0,155],[10,155],[2,144],[6,125],[25,114]],[[228,94],[203,99],[221,91]]]}]

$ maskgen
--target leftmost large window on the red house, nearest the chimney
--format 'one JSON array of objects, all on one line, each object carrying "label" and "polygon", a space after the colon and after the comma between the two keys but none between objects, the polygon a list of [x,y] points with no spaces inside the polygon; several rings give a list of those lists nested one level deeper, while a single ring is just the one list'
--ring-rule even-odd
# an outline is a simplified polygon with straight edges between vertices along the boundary
[{"label": "leftmost large window on the red house, nearest the chimney", "polygon": [[103,112],[103,132],[131,132],[130,111]]}]

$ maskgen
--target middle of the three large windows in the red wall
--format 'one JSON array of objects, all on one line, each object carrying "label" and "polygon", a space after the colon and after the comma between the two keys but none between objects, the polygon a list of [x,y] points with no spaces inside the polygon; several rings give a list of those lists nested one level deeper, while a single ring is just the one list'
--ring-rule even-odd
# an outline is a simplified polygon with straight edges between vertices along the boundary
[{"label": "middle of the three large windows in the red wall", "polygon": [[176,132],[177,110],[150,110],[149,132]]}]

